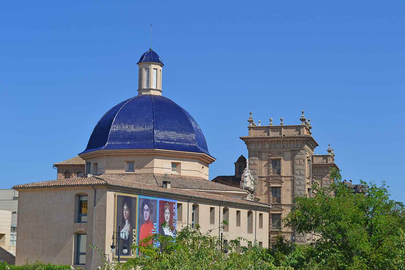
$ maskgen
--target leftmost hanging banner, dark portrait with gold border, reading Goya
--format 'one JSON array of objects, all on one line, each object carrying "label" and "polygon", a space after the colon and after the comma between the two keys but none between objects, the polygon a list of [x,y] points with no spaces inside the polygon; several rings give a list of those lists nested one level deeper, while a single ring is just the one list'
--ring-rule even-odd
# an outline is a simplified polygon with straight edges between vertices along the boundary
[{"label": "leftmost hanging banner, dark portrait with gold border, reading Goya", "polygon": [[[115,241],[114,257],[118,257],[118,252],[122,259],[130,259],[136,255],[136,251],[132,251],[131,246],[137,244],[137,197],[137,195],[118,192],[115,196],[114,231],[118,234],[119,246],[118,241]],[[124,253],[124,247],[127,250],[126,253]]]}]

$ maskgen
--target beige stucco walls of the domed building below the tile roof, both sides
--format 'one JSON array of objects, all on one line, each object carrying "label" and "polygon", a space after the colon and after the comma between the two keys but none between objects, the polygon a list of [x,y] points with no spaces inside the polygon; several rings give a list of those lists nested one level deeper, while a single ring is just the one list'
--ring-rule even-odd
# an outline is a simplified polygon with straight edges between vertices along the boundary
[{"label": "beige stucco walls of the domed building below the tile roof, both sides", "polygon": [[[111,235],[114,230],[115,216],[115,190],[98,188],[96,190],[96,223],[94,244],[104,249],[109,259],[113,258],[110,252]],[[129,193],[122,191],[123,193]],[[88,212],[87,223],[75,223],[77,214],[77,195],[87,194]],[[151,196],[151,194],[140,194]],[[164,198],[165,196],[157,195]],[[176,195],[169,195],[168,199],[175,198]],[[93,232],[93,199],[94,190],[89,188],[41,188],[41,189],[21,189],[19,192],[19,228],[17,234],[16,264],[21,265],[24,260],[40,259],[45,263],[74,265],[77,233],[87,234],[86,268],[91,269],[93,250],[88,247],[92,244]],[[229,209],[229,231],[223,232],[224,239],[232,240],[239,236],[247,238],[247,241],[254,242],[255,236],[258,242],[262,242],[263,247],[268,246],[269,240],[269,214],[264,208],[256,209],[256,206],[235,206],[222,202],[207,202],[201,200],[177,199],[183,204],[183,219],[179,221],[178,229],[187,224],[187,212],[189,212],[189,223],[191,223],[192,204],[199,205],[199,224],[202,231],[217,228],[222,221],[221,211],[224,207]],[[221,206],[219,206],[222,204]],[[187,205],[189,207],[187,207]],[[215,224],[209,223],[210,207],[215,208]],[[241,226],[236,226],[236,210],[241,211]],[[256,225],[256,218],[253,217],[253,233],[247,233],[247,211],[252,210],[257,215],[263,214],[263,228]],[[256,229],[255,229],[256,228]],[[7,228],[8,237],[10,228]],[[218,235],[218,229],[211,233]],[[247,246],[246,241],[241,241],[241,245]],[[94,252],[95,269],[100,265],[100,255]]]}]

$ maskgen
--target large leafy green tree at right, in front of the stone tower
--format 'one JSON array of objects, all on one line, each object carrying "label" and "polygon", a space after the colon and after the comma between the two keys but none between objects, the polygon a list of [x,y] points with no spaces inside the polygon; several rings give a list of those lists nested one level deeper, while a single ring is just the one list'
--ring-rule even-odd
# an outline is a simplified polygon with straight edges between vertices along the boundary
[{"label": "large leafy green tree at right, in front of the stone tower", "polygon": [[[328,188],[313,186],[312,198],[296,197],[284,224],[321,238],[306,258],[307,269],[405,269],[404,206],[389,199],[385,182],[354,193],[331,168]],[[362,185],[365,182],[360,180]]]}]

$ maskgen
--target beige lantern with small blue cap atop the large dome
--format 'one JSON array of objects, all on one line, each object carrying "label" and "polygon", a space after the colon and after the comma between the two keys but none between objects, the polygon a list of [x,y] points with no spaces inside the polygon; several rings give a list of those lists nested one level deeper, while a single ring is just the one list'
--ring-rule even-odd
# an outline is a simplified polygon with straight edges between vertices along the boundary
[{"label": "beige lantern with small blue cap atop the large dome", "polygon": [[138,94],[162,95],[162,59],[150,48],[136,63],[139,66]]}]

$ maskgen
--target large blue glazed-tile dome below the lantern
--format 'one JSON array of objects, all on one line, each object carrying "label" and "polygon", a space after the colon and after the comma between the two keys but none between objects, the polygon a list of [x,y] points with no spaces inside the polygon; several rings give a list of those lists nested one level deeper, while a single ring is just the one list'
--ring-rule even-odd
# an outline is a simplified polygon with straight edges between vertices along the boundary
[{"label": "large blue glazed-tile dome below the lantern", "polygon": [[115,105],[98,121],[86,149],[162,149],[208,152],[200,126],[164,96],[139,95]]}]

